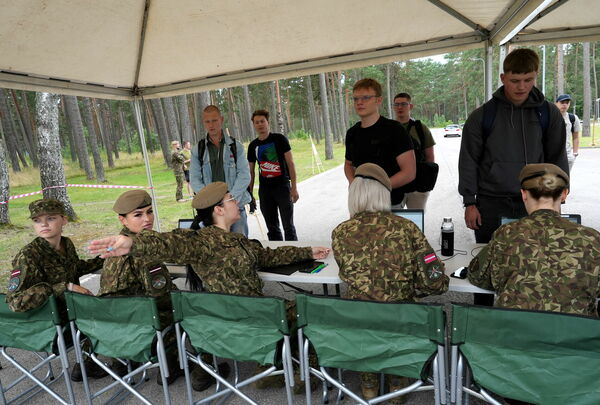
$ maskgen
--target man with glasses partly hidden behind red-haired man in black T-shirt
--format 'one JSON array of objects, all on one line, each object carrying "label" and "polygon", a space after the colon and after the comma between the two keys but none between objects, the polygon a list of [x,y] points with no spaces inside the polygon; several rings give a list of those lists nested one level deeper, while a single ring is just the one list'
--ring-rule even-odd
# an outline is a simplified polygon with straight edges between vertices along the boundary
[{"label": "man with glasses partly hidden behind red-haired man in black T-shirt", "polygon": [[[433,140],[433,136],[431,136],[431,131],[427,125],[419,120],[414,120],[410,116],[410,112],[414,107],[410,94],[398,93],[394,97],[393,106],[396,113],[396,121],[402,124],[411,137],[417,162],[435,162],[433,153],[435,141]],[[413,191],[404,195],[402,205],[410,209],[424,210],[425,205],[427,205],[427,198],[429,198],[429,191],[424,193]]]}]

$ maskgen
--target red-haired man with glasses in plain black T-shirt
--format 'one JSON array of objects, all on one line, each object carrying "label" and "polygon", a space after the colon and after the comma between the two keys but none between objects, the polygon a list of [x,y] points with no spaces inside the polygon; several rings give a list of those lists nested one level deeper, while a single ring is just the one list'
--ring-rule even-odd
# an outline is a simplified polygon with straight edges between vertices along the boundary
[{"label": "red-haired man with glasses in plain black T-shirt", "polygon": [[359,80],[352,89],[360,122],[346,132],[344,174],[352,183],[356,168],[363,163],[382,167],[392,182],[392,208],[400,208],[404,199],[402,186],[415,178],[415,154],[402,124],[379,114],[381,94],[381,85],[373,79]]}]

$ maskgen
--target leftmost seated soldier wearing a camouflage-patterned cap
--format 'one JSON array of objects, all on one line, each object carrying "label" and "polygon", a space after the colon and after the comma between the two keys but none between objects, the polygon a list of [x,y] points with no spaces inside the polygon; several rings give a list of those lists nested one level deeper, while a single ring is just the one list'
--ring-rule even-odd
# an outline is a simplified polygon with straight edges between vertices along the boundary
[{"label": "leftmost seated soldier wearing a camouflage-patterned cap", "polygon": [[[60,201],[33,201],[29,204],[29,212],[37,238],[23,247],[13,259],[6,302],[11,310],[25,312],[39,307],[50,295],[54,295],[61,319],[66,325],[68,317],[64,292],[69,290],[92,295],[90,290],[79,285],[79,277],[102,268],[104,260],[99,257],[79,259],[73,242],[62,236],[68,220]],[[86,362],[86,367],[91,378],[107,375],[92,361]],[[77,363],[71,374],[78,372],[81,374]]]}]

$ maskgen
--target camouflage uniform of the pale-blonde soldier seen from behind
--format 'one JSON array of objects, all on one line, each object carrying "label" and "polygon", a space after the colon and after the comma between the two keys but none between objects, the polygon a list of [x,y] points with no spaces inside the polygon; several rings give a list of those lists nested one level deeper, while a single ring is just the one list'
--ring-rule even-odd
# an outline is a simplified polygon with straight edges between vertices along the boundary
[{"label": "camouflage uniform of the pale-blonde soldier seen from behind", "polygon": [[[349,298],[415,301],[418,296],[448,290],[444,263],[415,224],[390,212],[361,212],[331,234],[340,278]],[[360,374],[362,387],[374,389],[379,375]],[[391,384],[403,386],[398,377]]]}]

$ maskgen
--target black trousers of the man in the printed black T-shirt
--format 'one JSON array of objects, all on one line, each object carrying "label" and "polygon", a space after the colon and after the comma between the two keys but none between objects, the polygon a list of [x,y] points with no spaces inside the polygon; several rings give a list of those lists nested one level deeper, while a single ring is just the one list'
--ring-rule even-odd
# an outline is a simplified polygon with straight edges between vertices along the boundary
[{"label": "black trousers of the man in the printed black T-shirt", "polygon": [[290,184],[288,182],[276,185],[260,185],[258,188],[260,198],[260,212],[267,224],[269,240],[283,240],[279,228],[279,217],[283,224],[285,240],[298,240],[294,226],[294,204],[290,200]]}]

